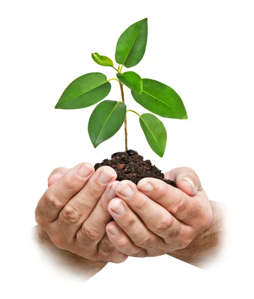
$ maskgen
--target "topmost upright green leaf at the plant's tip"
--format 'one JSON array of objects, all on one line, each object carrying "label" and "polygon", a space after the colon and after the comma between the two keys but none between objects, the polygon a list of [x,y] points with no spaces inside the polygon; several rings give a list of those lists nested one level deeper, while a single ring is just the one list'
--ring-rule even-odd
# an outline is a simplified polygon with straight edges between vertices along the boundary
[{"label": "topmost upright green leaf at the plant's tip", "polygon": [[147,18],[130,25],[119,37],[116,61],[125,67],[132,67],[144,56],[147,41]]}]

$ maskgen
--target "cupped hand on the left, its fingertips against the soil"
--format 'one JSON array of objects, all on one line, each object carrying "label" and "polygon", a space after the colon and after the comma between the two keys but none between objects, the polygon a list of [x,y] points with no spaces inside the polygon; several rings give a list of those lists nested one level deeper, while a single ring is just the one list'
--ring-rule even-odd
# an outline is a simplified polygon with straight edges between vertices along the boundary
[{"label": "cupped hand on the left, its fingertips against the soil", "polygon": [[95,172],[89,163],[51,173],[35,220],[56,247],[89,260],[120,263],[127,259],[106,234],[112,219],[107,208],[116,196],[116,178],[113,168],[103,166]]}]

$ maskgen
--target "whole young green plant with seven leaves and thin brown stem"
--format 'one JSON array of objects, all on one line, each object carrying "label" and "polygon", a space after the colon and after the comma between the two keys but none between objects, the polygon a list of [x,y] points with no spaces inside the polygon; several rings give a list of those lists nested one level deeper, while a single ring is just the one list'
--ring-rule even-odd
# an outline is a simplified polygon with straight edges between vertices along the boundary
[{"label": "whole young green plant with seven leaves and thin brown stem", "polygon": [[102,73],[89,73],[74,80],[63,92],[55,108],[80,109],[105,99],[111,90],[110,81],[119,82],[122,101],[103,101],[94,109],[88,123],[88,133],[96,148],[114,136],[125,124],[125,148],[127,150],[127,112],[135,113],[145,138],[159,156],[163,156],[167,133],[162,122],[153,114],[139,115],[127,110],[123,85],[131,90],[133,99],[150,112],[165,118],[187,119],[187,113],[179,95],[169,86],[152,79],[141,79],[133,72],[123,72],[123,67],[133,67],[142,59],[147,41],[147,18],[130,25],[120,36],[116,48],[116,62],[107,56],[92,53],[93,60],[117,71],[117,78],[107,79]]}]

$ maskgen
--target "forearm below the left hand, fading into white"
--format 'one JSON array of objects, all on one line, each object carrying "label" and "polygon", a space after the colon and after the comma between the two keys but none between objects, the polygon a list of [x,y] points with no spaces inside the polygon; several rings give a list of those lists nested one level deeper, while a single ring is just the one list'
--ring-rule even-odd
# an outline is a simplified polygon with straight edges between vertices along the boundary
[{"label": "forearm below the left hand, fading into white", "polygon": [[107,262],[91,261],[67,250],[57,248],[47,233],[39,226],[34,227],[34,237],[43,251],[47,251],[47,254],[52,256],[58,265],[68,268],[70,272],[84,277],[85,280],[93,277],[107,265]]}]

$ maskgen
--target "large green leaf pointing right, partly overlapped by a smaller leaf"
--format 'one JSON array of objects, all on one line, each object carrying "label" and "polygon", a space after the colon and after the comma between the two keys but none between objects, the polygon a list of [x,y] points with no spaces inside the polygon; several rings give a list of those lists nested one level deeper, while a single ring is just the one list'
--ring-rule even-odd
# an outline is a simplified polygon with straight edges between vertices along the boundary
[{"label": "large green leaf pointing right, partly overlapped by a smaller leaf", "polygon": [[134,100],[147,110],[167,118],[187,119],[179,95],[169,86],[152,79],[143,79],[141,95],[131,91]]}]

